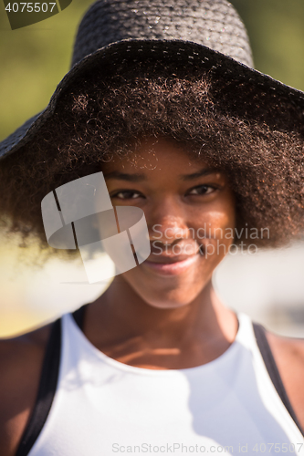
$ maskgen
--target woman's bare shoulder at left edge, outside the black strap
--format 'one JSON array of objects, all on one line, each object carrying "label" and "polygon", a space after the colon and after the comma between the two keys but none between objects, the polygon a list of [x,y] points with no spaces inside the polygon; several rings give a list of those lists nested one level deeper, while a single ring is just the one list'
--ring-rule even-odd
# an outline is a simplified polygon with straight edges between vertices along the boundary
[{"label": "woman's bare shoulder at left edge, outside the black strap", "polygon": [[3,456],[16,453],[34,408],[50,327],[0,340],[0,448]]}]

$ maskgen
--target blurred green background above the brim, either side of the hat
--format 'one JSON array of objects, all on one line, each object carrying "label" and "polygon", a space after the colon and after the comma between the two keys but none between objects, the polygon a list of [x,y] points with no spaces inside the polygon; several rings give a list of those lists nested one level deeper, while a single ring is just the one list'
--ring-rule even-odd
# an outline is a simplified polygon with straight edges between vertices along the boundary
[{"label": "blurred green background above the brim, either side of the hat", "polygon": [[[68,8],[12,31],[0,1],[0,140],[47,105],[67,73],[79,19],[92,3]],[[304,1],[233,0],[243,18],[258,70],[304,90]]]}]

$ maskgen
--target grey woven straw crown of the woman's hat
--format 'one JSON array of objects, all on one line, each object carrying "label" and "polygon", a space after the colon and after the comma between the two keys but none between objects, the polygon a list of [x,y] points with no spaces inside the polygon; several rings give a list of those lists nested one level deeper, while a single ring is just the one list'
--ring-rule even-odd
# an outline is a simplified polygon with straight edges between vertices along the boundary
[{"label": "grey woven straw crown of the woman's hat", "polygon": [[226,0],[99,0],[80,22],[72,66],[125,39],[181,39],[253,67],[246,28]]}]

